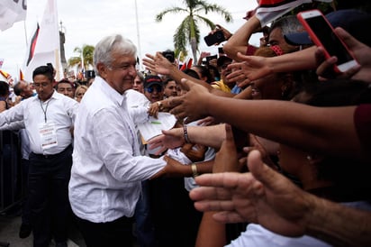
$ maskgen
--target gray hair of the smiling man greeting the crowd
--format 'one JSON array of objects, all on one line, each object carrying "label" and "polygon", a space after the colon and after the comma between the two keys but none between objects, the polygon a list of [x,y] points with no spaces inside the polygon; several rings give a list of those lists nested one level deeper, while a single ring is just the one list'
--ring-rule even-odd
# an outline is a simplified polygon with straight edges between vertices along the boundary
[{"label": "gray hair of the smiling man greeting the crowd", "polygon": [[131,40],[122,37],[121,34],[113,34],[104,37],[95,45],[94,50],[94,69],[95,74],[99,76],[99,71],[96,68],[98,63],[104,63],[106,66],[112,66],[113,54],[112,52],[121,52],[122,54],[136,57],[137,48]]}]

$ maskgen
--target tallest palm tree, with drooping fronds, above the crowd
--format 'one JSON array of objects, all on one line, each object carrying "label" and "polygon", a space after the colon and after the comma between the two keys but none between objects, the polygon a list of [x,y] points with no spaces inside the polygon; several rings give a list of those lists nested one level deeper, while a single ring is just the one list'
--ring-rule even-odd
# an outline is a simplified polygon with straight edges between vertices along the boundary
[{"label": "tallest palm tree, with drooping fronds, above the crowd", "polygon": [[197,62],[197,50],[198,44],[200,43],[200,29],[199,23],[204,23],[210,27],[211,30],[215,28],[215,24],[208,18],[200,15],[200,13],[208,14],[211,12],[222,14],[226,23],[232,22],[231,14],[222,6],[211,5],[204,0],[184,0],[184,7],[170,7],[163,10],[161,13],[156,15],[156,22],[161,22],[164,15],[167,13],[178,14],[185,13],[185,19],[180,23],[174,34],[174,47],[177,54],[182,52],[186,54],[185,46],[191,45],[194,62]]}]

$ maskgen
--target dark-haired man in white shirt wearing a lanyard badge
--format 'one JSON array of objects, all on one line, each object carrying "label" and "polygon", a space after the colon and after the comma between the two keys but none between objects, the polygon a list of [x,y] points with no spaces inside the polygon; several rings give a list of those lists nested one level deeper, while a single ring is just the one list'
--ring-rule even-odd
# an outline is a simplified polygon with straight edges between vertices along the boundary
[{"label": "dark-haired man in white shirt wearing a lanyard badge", "polygon": [[33,246],[67,246],[68,181],[72,166],[72,136],[78,103],[53,88],[53,68],[32,73],[38,96],[0,114],[0,126],[23,121],[30,137],[29,203]]}]

